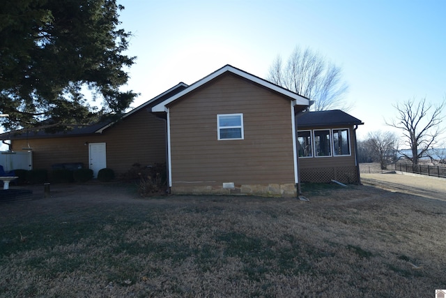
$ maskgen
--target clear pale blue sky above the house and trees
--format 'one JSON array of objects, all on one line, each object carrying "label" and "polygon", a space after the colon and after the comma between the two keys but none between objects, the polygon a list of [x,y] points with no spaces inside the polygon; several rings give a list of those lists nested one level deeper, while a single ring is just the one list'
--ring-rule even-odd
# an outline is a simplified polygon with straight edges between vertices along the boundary
[{"label": "clear pale blue sky above the house and trees", "polygon": [[[359,137],[392,130],[392,104],[446,96],[446,1],[118,0],[132,31],[133,107],[231,64],[265,78],[278,54],[310,47],[341,66]],[[445,124],[446,125],[446,124]],[[399,133],[399,132],[398,132]]]}]

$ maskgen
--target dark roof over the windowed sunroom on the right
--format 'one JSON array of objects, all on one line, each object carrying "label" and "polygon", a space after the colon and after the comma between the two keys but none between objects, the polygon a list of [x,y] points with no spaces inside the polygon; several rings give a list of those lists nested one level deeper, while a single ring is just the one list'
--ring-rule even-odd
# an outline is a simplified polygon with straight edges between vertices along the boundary
[{"label": "dark roof over the windowed sunroom on the right", "polygon": [[353,126],[364,124],[351,114],[341,110],[305,112],[296,118],[298,128],[318,128],[328,126]]}]

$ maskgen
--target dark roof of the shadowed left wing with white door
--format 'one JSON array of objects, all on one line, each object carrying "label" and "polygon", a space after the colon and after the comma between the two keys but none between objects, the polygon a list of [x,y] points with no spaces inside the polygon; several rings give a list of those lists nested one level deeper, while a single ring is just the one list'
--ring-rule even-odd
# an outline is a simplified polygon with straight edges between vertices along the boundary
[{"label": "dark roof of the shadowed left wing with white door", "polygon": [[134,114],[139,110],[142,110],[144,108],[150,108],[153,105],[159,103],[160,101],[165,100],[166,98],[169,98],[170,96],[173,96],[174,94],[177,94],[180,91],[183,91],[187,87],[188,87],[187,84],[180,82],[171,89],[164,91],[162,94],[155,96],[151,100],[146,101],[146,103],[139,105],[139,107],[135,107],[134,109],[130,110],[130,112],[123,114],[121,117],[118,118],[118,120],[113,119],[109,121],[102,121],[87,126],[73,126],[70,131],[60,131],[57,133],[46,133],[44,130],[26,131],[26,129],[22,129],[19,131],[10,131],[7,133],[1,133],[0,140],[20,140],[26,138],[33,139],[40,137],[66,137],[66,136],[74,137],[77,135],[92,135],[95,133],[102,133],[102,131],[109,128],[110,126],[113,126],[114,124],[116,124],[116,122],[125,119],[126,117],[129,117],[130,115]]}]

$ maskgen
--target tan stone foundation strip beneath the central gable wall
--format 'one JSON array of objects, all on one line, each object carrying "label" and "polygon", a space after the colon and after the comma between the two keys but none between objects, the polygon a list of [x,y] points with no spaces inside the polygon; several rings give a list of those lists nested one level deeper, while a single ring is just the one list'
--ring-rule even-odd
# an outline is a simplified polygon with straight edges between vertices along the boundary
[{"label": "tan stone foundation strip beneath the central gable wall", "polygon": [[295,184],[243,184],[234,188],[223,186],[172,186],[173,195],[258,195],[261,197],[297,197]]}]

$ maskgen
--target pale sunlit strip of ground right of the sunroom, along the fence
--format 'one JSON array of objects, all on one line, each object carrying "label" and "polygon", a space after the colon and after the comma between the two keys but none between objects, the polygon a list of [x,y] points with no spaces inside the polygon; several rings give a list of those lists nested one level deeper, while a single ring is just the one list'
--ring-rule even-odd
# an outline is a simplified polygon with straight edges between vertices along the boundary
[{"label": "pale sunlit strip of ground right of the sunroom, along the fence", "polygon": [[446,200],[446,179],[444,178],[389,172],[385,174],[361,174],[361,182],[364,185],[376,186],[389,191]]}]

